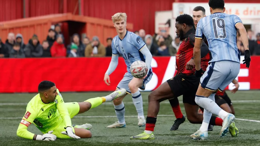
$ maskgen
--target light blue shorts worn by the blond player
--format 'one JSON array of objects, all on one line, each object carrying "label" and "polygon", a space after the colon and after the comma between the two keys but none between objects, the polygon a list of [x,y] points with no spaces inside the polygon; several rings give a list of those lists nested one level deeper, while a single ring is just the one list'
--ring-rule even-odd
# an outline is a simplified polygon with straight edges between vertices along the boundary
[{"label": "light blue shorts worn by the blond player", "polygon": [[[143,80],[143,85],[140,87],[141,90],[145,89],[145,84],[147,84],[153,76],[153,72],[151,69],[149,70],[147,77]],[[133,76],[130,72],[126,72],[122,80],[118,83],[116,89],[124,88],[127,90],[128,94],[131,94],[130,89],[128,87],[129,82],[133,79]]]}]

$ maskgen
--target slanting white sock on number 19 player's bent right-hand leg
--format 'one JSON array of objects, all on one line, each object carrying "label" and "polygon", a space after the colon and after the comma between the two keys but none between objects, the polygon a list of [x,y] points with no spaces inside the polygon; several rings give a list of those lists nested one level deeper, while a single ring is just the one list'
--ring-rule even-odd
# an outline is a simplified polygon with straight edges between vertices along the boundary
[{"label": "slanting white sock on number 19 player's bent right-hand leg", "polygon": [[[218,115],[219,112],[222,110],[218,106],[218,104],[216,104],[216,102],[214,102],[213,100],[207,97],[196,96],[195,102],[200,107],[204,108],[204,110],[207,110],[209,113],[212,113],[214,115]],[[204,114],[203,114],[203,118],[204,118]]]}]

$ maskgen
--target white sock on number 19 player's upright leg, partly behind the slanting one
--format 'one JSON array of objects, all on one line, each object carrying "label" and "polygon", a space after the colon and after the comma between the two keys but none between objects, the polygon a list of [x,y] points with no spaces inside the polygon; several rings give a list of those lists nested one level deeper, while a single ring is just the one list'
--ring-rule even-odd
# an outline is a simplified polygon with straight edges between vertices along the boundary
[{"label": "white sock on number 19 player's upright leg, partly behind the slanting one", "polygon": [[[208,98],[212,101],[215,101],[215,94],[216,93],[212,93]],[[212,116],[212,113],[209,113],[207,110],[204,109],[203,121],[202,121],[202,125],[200,126],[201,132],[208,131],[208,126],[209,126],[209,121],[210,121],[211,116]]]}]

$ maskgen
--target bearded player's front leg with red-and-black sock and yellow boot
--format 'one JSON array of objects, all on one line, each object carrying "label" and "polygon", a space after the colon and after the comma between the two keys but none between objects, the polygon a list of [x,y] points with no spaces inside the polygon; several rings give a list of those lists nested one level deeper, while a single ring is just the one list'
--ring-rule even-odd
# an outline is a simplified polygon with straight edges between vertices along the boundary
[{"label": "bearded player's front leg with red-and-black sock and yellow boot", "polygon": [[132,136],[130,139],[154,139],[154,127],[159,112],[160,102],[174,97],[168,82],[162,83],[148,96],[148,114],[144,132]]}]

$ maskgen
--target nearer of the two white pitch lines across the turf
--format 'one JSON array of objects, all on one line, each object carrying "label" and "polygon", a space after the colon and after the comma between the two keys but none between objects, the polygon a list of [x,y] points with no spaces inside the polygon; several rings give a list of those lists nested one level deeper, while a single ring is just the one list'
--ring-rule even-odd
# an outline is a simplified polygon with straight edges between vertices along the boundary
[{"label": "nearer of the two white pitch lines across the turf", "polygon": [[[137,116],[125,116],[125,117],[137,117]],[[157,117],[174,117],[174,115],[157,115]],[[75,116],[73,118],[116,118],[116,116]],[[0,117],[0,119],[22,119],[22,117]],[[260,123],[259,120],[237,119],[237,118],[236,120]]]}]

